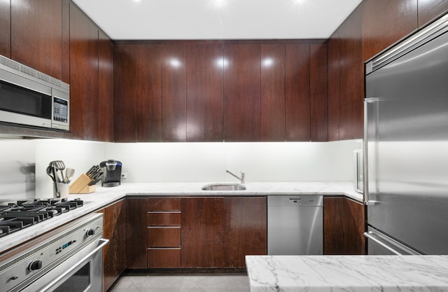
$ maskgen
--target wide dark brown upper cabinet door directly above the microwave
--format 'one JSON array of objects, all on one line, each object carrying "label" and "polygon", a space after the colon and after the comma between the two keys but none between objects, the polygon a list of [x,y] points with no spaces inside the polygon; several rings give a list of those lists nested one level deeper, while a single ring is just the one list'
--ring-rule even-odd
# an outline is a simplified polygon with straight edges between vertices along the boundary
[{"label": "wide dark brown upper cabinet door directly above the microwave", "polygon": [[[1,6],[5,2],[9,1],[1,0]],[[10,4],[11,59],[62,79],[63,1],[18,0]],[[0,11],[4,13],[3,7]]]}]

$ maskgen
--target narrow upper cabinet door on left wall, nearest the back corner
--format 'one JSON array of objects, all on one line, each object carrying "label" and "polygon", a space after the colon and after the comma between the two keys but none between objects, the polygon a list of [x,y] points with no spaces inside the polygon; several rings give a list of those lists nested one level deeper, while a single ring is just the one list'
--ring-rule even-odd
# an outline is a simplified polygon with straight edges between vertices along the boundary
[{"label": "narrow upper cabinet door on left wall, nearest the back corner", "polygon": [[99,33],[98,127],[100,141],[113,141],[113,44]]}]

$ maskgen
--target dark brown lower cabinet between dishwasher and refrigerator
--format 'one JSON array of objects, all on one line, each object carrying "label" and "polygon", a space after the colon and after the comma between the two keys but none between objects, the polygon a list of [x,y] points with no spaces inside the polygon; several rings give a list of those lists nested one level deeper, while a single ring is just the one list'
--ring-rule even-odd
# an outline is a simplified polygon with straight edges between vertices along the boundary
[{"label": "dark brown lower cabinet between dishwasher and refrigerator", "polygon": [[347,197],[323,199],[323,253],[365,254],[365,210]]}]

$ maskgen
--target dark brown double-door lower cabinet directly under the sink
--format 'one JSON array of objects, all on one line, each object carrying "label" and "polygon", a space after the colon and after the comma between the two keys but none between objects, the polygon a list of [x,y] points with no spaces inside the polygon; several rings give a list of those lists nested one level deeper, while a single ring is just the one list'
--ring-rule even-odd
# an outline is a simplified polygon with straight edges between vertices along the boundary
[{"label": "dark brown double-door lower cabinet directly under the sink", "polygon": [[182,199],[182,267],[246,267],[266,253],[266,197]]}]

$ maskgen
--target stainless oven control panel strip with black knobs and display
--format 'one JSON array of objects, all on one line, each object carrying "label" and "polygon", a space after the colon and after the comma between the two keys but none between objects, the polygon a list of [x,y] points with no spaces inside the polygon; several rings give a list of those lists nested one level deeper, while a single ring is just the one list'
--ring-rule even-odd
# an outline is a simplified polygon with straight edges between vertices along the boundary
[{"label": "stainless oven control panel strip with black knobs and display", "polygon": [[[94,235],[88,235],[94,230]],[[50,236],[37,237],[35,245],[18,253],[11,251],[0,262],[0,286],[9,291],[16,286],[27,286],[59,263],[75,255],[91,242],[102,238],[103,215],[90,214],[52,231]],[[20,250],[20,247],[18,249]]]}]

